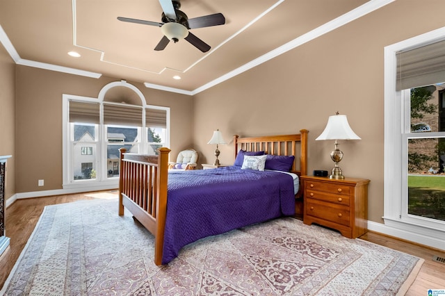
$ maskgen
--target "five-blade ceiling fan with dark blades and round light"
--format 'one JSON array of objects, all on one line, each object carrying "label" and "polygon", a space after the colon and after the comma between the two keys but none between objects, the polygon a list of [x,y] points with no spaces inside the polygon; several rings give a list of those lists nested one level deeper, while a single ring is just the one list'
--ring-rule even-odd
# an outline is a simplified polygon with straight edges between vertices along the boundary
[{"label": "five-blade ceiling fan with dark blades and round light", "polygon": [[122,22],[161,27],[161,31],[164,36],[154,48],[156,51],[165,49],[170,41],[176,43],[181,39],[187,40],[202,52],[209,51],[209,44],[200,40],[200,38],[197,38],[188,30],[192,28],[204,28],[207,26],[218,26],[225,24],[225,17],[222,13],[215,13],[213,15],[204,15],[202,17],[188,19],[187,15],[179,10],[179,8],[181,8],[181,3],[179,3],[179,0],[159,0],[159,3],[161,3],[163,10],[161,16],[162,22],[150,22],[143,19],[131,19],[129,17],[118,17],[118,19]]}]

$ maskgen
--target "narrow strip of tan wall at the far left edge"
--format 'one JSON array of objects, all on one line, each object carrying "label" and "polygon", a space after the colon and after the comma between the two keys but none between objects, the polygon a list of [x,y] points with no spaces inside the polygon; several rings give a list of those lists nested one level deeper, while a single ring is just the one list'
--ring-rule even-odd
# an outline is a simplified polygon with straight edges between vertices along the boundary
[{"label": "narrow strip of tan wall at the far left edge", "polygon": [[6,162],[5,197],[15,194],[15,65],[0,44],[0,155]]}]

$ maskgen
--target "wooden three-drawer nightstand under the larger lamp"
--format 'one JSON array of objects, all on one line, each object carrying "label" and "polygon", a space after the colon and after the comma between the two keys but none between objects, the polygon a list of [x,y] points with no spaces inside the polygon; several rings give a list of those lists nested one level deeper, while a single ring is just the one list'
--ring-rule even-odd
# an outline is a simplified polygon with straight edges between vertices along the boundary
[{"label": "wooden three-drawer nightstand under the larger lamp", "polygon": [[301,176],[304,195],[303,222],[337,229],[347,238],[357,238],[368,227],[367,179],[329,179]]}]

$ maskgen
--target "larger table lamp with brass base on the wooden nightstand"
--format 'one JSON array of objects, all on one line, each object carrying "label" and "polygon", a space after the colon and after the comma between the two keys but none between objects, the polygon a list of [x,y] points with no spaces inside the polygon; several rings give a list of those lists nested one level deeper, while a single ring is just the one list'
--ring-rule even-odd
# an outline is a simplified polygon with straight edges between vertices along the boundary
[{"label": "larger table lamp with brass base on the wooden nightstand", "polygon": [[335,140],[335,149],[331,152],[332,161],[334,161],[335,166],[332,169],[332,174],[329,179],[345,179],[339,167],[339,162],[343,158],[343,152],[339,150],[339,143],[337,140],[362,140],[358,135],[356,135],[353,129],[350,128],[348,124],[348,119],[346,115],[332,115],[327,120],[325,130],[318,138],[315,140]]}]

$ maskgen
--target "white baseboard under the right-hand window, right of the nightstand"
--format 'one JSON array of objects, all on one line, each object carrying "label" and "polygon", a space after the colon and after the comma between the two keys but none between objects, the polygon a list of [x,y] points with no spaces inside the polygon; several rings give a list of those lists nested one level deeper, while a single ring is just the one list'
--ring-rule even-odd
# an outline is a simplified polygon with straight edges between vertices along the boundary
[{"label": "white baseboard under the right-hand window, right of the nightstand", "polygon": [[403,240],[409,240],[410,242],[415,242],[419,245],[433,247],[435,249],[441,249],[445,251],[445,242],[444,240],[442,240],[442,238],[432,238],[430,236],[424,236],[420,233],[412,233],[410,231],[396,229],[394,227],[389,227],[385,224],[373,221],[368,221],[368,230],[386,234],[387,236],[394,236],[395,238],[401,238]]}]

